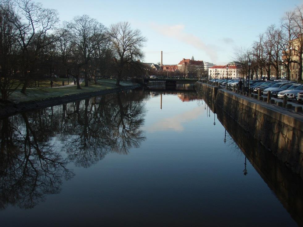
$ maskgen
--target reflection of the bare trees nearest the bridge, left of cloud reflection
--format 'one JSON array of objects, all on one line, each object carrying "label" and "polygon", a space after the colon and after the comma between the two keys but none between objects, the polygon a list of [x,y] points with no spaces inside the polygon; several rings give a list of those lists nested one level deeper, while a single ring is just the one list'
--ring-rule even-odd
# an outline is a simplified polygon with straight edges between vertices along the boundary
[{"label": "reflection of the bare trees nearest the bridge, left of cloud reflection", "polygon": [[64,148],[69,160],[87,168],[110,151],[127,154],[128,149],[139,147],[145,139],[140,130],[144,124],[144,106],[139,102],[143,93],[134,94],[118,93],[76,103],[75,111],[69,114],[76,124]]}]

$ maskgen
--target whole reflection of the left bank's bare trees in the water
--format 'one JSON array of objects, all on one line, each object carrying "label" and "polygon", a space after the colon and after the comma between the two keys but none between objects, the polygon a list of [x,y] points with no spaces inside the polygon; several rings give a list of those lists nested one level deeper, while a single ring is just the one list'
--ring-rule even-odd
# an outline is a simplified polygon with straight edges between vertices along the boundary
[{"label": "whole reflection of the left bank's bare trees in the water", "polygon": [[[32,208],[108,152],[127,154],[145,140],[145,95],[104,95],[0,120],[0,208]],[[67,154],[63,157],[64,154]]]}]

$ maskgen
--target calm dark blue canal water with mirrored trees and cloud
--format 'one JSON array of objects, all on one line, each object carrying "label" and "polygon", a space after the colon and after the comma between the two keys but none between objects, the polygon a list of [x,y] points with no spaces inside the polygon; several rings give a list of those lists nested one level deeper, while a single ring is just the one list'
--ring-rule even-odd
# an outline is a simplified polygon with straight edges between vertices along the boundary
[{"label": "calm dark blue canal water with mirrored trees and cloud", "polygon": [[301,225],[301,180],[177,88],[2,119],[1,226]]}]

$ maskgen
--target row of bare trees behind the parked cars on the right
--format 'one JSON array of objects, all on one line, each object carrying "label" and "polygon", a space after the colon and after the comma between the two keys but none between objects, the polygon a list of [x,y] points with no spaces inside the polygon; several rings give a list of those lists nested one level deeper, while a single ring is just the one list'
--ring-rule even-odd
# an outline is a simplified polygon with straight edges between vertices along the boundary
[{"label": "row of bare trees behind the parked cars on the right", "polygon": [[[279,25],[270,25],[263,34],[260,34],[251,48],[241,48],[235,53],[235,61],[240,63],[240,74],[247,75],[251,60],[251,79],[253,75],[267,80],[274,73],[279,78],[281,66],[284,66],[286,78],[290,80],[291,65],[298,68],[297,80],[302,81],[302,54],[303,54],[303,5],[293,11],[286,12]],[[292,78],[294,79],[294,78]]]}]

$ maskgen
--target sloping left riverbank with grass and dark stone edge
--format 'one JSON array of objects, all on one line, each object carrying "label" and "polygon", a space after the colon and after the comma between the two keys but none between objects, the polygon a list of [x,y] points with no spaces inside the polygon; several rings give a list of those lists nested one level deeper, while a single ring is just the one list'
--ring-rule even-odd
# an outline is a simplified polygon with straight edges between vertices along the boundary
[{"label": "sloping left riverbank with grass and dark stone edge", "polygon": [[[96,95],[105,95],[123,90],[130,90],[141,87],[140,84],[122,82],[121,87],[116,86],[115,80],[99,81],[97,85],[91,84],[88,87],[81,86],[76,89],[75,85],[28,89],[27,95],[21,92],[14,92],[10,99],[11,103],[0,104],[0,118],[61,103],[68,103],[79,99],[86,99]],[[20,93],[20,94],[19,94]],[[19,97],[19,98],[18,98]]]}]

